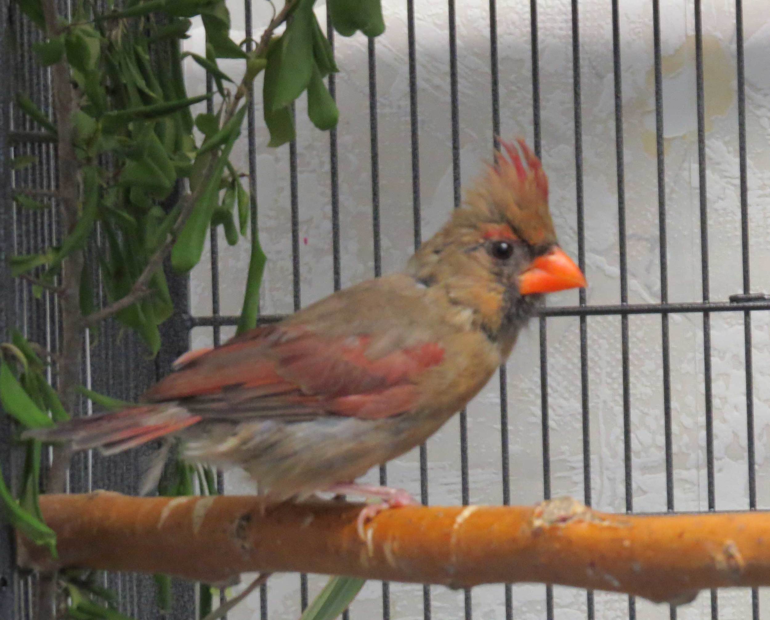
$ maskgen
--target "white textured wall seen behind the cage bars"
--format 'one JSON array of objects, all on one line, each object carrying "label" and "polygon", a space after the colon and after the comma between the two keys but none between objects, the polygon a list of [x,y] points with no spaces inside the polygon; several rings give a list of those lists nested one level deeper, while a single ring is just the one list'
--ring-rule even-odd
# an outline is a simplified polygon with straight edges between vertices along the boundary
[{"label": "white textured wall seen behind the cage bars", "polygon": [[[269,18],[266,2],[255,2],[255,31]],[[383,271],[399,268],[412,249],[409,82],[406,2],[383,2],[387,32],[377,39],[378,122]],[[652,12],[648,0],[621,4],[625,188],[627,201],[629,298],[658,302],[658,198],[654,147]],[[317,12],[325,23],[325,8]],[[588,303],[619,302],[618,196],[614,151],[614,98],[610,2],[581,0],[581,78],[585,232]],[[695,45],[692,2],[665,0],[663,45],[666,201],[669,292],[672,302],[701,298],[698,215],[698,152],[695,121]],[[230,3],[236,28],[243,24],[239,0]],[[551,210],[562,245],[576,251],[571,11],[565,0],[539,3],[541,111],[544,166],[551,177]],[[770,292],[770,5],[745,2],[746,122],[752,288]],[[420,109],[420,189],[423,238],[452,208],[452,162],[448,19],[443,3],[416,0],[417,78]],[[524,0],[498,0],[500,116],[502,135],[531,140],[530,12]],[[738,131],[735,89],[735,8],[708,0],[703,8],[706,155],[711,298],[725,301],[742,292],[738,199]],[[238,35],[234,35],[238,38]],[[189,48],[201,45],[196,31]],[[492,142],[489,69],[489,13],[485,2],[457,2],[460,98],[460,165],[464,182],[490,155]],[[373,275],[367,43],[359,36],[336,37],[340,65],[340,214],[343,285]],[[236,72],[237,63],[226,68]],[[189,67],[191,92],[203,75]],[[258,98],[259,99],[259,98]],[[266,148],[267,132],[257,102],[256,128],[259,228],[269,258],[263,311],[291,312],[289,149]],[[300,262],[303,305],[333,288],[330,224],[329,138],[307,121],[297,105],[300,205]],[[236,146],[246,169],[246,141]],[[248,248],[219,242],[223,314],[237,314],[248,265]],[[193,313],[211,311],[208,255],[192,276]],[[553,295],[552,305],[574,304],[577,295]],[[657,316],[631,316],[631,416],[634,508],[665,509],[662,413],[661,324]],[[745,370],[741,313],[715,314],[712,325],[716,503],[718,509],[746,508]],[[770,350],[768,314],[753,315],[758,505],[770,507]],[[229,335],[230,332],[223,332]],[[209,329],[194,332],[206,344]],[[675,504],[681,510],[707,508],[701,315],[671,316],[671,403],[674,425]],[[514,502],[542,497],[540,375],[534,323],[508,364],[511,489]],[[591,409],[591,486],[594,505],[624,510],[620,319],[588,319]],[[548,322],[551,456],[554,495],[583,494],[578,322]],[[490,382],[468,408],[471,502],[500,503],[500,395]],[[455,418],[428,444],[430,502],[460,502],[460,448]],[[391,485],[419,496],[417,451],[389,465]],[[373,476],[372,476],[372,479]],[[241,475],[230,475],[229,492],[250,492]],[[311,596],[323,578],[312,578]],[[393,618],[422,617],[422,589],[393,585]],[[770,618],[770,597],[762,596],[762,617]],[[462,618],[462,593],[432,588],[434,618]],[[474,618],[504,617],[502,586],[477,588]],[[750,614],[748,591],[720,593],[721,618]],[[556,588],[556,617],[583,618],[584,592]],[[707,618],[708,594],[682,609],[679,618]],[[259,596],[233,612],[256,618]],[[598,618],[623,618],[626,598],[596,595]],[[377,618],[380,585],[370,583],[353,604],[352,618]],[[299,614],[299,578],[272,578],[270,618]],[[668,608],[638,604],[640,618],[668,618]],[[514,616],[544,618],[544,588],[514,587]]]}]

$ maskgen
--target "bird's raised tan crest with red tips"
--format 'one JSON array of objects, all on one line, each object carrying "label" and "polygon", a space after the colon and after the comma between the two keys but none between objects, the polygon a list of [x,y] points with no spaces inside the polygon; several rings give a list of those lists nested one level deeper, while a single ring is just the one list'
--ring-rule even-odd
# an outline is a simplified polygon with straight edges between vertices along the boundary
[{"label": "bird's raised tan crest with red tips", "polygon": [[548,210],[547,175],[524,140],[518,138],[516,142],[518,149],[500,140],[502,149],[495,153],[494,163],[467,192],[467,215],[491,224],[509,225],[531,245],[551,245],[556,242],[556,234]]}]

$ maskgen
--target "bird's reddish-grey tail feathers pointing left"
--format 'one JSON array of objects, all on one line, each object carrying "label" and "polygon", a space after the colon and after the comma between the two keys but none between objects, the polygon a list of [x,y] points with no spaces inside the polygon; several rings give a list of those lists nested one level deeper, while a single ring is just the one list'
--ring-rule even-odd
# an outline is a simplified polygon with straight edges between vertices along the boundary
[{"label": "bird's reddish-grey tail feathers pointing left", "polygon": [[69,442],[73,450],[100,448],[103,454],[112,455],[181,431],[200,419],[186,408],[168,402],[74,418],[50,428],[28,430],[22,438],[49,443]]}]

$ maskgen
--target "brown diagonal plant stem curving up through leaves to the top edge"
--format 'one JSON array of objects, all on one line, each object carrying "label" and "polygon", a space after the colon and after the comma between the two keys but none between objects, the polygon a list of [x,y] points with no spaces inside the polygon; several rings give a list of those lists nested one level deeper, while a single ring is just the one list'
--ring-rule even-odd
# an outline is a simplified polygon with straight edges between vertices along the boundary
[{"label": "brown diagonal plant stem curving up through leaves to the top edge", "polygon": [[[265,32],[262,33],[262,37],[259,39],[259,45],[257,45],[253,52],[254,55],[259,56],[266,52],[267,45],[269,45],[270,38],[273,36],[273,32],[275,32],[276,28],[278,28],[281,24],[283,24],[283,22],[286,21],[286,18],[289,17],[289,14],[294,5],[296,5],[296,2],[297,0],[288,0],[288,2],[283,5],[283,8],[276,14],[267,28],[265,28]],[[249,88],[249,86],[250,85],[246,82],[246,78],[244,78],[243,81],[239,84],[235,96],[233,96],[229,104],[226,105],[220,126],[224,127],[236,114],[239,103],[244,98],[249,98],[249,92],[251,92],[251,88]],[[216,157],[213,157],[203,171],[201,178],[209,178],[213,174],[215,166]],[[117,314],[122,309],[128,308],[129,305],[135,304],[146,295],[149,295],[151,291],[149,290],[148,285],[149,281],[152,279],[152,275],[154,275],[155,272],[161,268],[163,261],[166,260],[166,256],[168,256],[169,252],[171,252],[174,246],[174,242],[176,242],[176,237],[179,235],[179,232],[182,231],[182,228],[184,228],[184,225],[186,224],[189,216],[192,214],[192,210],[195,208],[196,202],[198,202],[198,199],[203,194],[205,188],[206,184],[200,183],[196,187],[195,191],[190,192],[189,194],[186,194],[184,197],[182,197],[182,208],[179,212],[179,218],[177,218],[176,223],[171,228],[166,241],[163,242],[163,244],[156,250],[155,254],[152,255],[152,257],[147,262],[144,271],[142,271],[142,274],[139,275],[139,278],[137,278],[136,282],[134,282],[131,291],[112,304],[109,304],[101,310],[93,312],[92,314],[84,317],[82,319],[83,327],[95,325],[96,323],[103,321],[105,318],[109,318],[112,315]]]}]

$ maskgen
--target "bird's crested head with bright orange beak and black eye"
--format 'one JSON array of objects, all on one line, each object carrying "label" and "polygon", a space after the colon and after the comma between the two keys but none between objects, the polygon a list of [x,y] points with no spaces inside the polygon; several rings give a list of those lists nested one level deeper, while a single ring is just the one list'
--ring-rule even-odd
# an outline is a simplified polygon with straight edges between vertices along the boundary
[{"label": "bird's crested head with bright orange beak and black eye", "polygon": [[541,162],[517,142],[521,155],[500,141],[465,205],[408,266],[424,285],[441,286],[451,302],[473,309],[490,335],[524,322],[544,294],[586,285],[557,243]]}]

